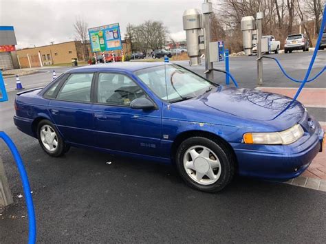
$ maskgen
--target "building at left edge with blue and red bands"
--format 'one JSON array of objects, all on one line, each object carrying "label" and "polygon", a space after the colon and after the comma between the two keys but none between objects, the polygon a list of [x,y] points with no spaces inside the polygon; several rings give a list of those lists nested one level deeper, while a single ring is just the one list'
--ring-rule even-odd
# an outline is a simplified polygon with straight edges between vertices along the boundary
[{"label": "building at left edge with blue and red bands", "polygon": [[0,69],[19,68],[13,26],[0,26]]}]

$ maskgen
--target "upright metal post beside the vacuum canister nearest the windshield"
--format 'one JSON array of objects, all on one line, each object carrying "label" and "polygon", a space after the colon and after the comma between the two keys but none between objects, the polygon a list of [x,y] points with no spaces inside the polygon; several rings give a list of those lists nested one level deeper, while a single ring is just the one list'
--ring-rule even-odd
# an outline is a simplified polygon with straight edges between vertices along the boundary
[{"label": "upright metal post beside the vacuum canister nearest the windshield", "polygon": [[[213,12],[212,3],[209,0],[204,0],[202,5],[203,7],[203,24],[204,24],[204,43],[205,43],[205,69],[213,69],[213,62],[210,62],[209,58],[209,43],[210,43],[210,13]],[[206,74],[206,79],[214,82],[214,74],[212,72],[208,72]]]}]

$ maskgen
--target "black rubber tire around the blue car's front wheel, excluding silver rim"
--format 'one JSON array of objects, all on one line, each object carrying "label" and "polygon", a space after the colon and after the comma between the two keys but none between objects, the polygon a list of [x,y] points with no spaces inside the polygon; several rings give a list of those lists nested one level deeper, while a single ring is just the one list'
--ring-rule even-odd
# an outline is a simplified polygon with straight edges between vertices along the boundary
[{"label": "black rubber tire around the blue car's front wheel, excluding silver rim", "polygon": [[[188,176],[186,173],[186,170],[184,168],[184,153],[190,148],[191,146],[206,146],[207,148],[210,148],[215,155],[219,158],[219,162],[221,163],[221,175],[219,179],[210,185],[201,185],[197,182],[193,181],[191,177]],[[176,166],[177,170],[180,173],[182,179],[188,184],[188,186],[191,186],[197,190],[202,190],[205,192],[218,192],[219,190],[222,190],[224,187],[226,187],[233,175],[234,175],[234,162],[230,158],[230,152],[226,152],[226,148],[220,146],[213,140],[210,140],[205,137],[191,137],[187,140],[184,140],[182,144],[180,144],[179,148],[177,149],[176,154]]]}]

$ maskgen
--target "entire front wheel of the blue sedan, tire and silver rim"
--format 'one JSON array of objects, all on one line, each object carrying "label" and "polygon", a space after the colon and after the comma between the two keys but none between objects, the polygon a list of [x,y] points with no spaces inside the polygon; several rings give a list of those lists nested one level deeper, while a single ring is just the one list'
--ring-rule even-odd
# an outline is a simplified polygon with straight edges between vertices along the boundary
[{"label": "entire front wheel of the blue sedan, tire and silver rim", "polygon": [[230,150],[206,137],[184,140],[177,149],[175,159],[177,170],[186,184],[204,192],[219,192],[235,174],[234,157]]}]

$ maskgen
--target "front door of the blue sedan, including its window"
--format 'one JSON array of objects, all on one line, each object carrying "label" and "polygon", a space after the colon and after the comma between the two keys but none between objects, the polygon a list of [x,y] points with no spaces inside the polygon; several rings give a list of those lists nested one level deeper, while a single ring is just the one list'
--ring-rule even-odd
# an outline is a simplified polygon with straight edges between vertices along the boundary
[{"label": "front door of the blue sedan, including its window", "polygon": [[159,155],[162,106],[151,111],[131,109],[132,100],[147,95],[124,74],[98,74],[95,89],[96,145],[114,151]]}]

